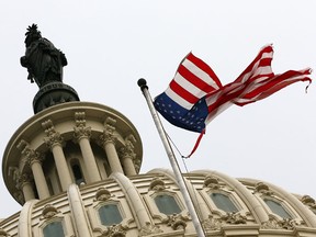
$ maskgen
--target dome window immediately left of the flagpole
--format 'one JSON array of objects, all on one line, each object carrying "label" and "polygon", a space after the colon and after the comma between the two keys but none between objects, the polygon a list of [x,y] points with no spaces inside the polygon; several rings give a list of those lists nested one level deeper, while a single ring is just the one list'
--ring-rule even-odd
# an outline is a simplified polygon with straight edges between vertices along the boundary
[{"label": "dome window immediately left of the flagpole", "polygon": [[155,196],[154,200],[160,213],[172,215],[181,212],[181,208],[172,195],[159,194]]}]

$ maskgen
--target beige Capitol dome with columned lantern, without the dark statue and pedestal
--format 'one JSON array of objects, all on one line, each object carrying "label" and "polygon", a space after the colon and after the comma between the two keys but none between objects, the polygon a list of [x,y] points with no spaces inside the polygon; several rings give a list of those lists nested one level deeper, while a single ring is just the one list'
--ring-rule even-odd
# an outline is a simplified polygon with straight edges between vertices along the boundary
[{"label": "beige Capitol dome with columned lantern, without the dark statue and pedestal", "polygon": [[[23,206],[0,236],[196,236],[173,172],[140,174],[142,159],[136,128],[109,106],[67,102],[35,114],[4,151],[5,184]],[[311,196],[211,170],[183,178],[205,236],[316,235]]]}]

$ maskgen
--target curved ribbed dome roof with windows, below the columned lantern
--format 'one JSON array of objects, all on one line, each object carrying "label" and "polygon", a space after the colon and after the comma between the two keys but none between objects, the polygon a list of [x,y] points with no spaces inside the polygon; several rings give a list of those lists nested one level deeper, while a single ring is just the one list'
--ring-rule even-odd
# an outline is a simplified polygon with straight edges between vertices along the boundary
[{"label": "curved ribbed dome roof with windows, below the columned lantern", "polygon": [[[316,235],[316,204],[309,196],[217,171],[183,177],[207,235]],[[52,229],[67,236],[195,236],[173,172],[159,168],[129,178],[114,172],[100,182],[71,184],[55,198],[26,202],[0,228],[7,236],[20,237],[43,236]]]}]

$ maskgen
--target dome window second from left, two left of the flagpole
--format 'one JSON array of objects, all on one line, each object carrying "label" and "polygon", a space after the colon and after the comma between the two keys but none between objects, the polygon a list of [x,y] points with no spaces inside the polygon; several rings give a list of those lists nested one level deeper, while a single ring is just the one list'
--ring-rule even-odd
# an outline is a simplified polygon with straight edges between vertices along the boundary
[{"label": "dome window second from left, two left of the flagpole", "polygon": [[123,218],[116,204],[106,204],[99,210],[99,216],[102,225],[111,226],[120,224]]}]

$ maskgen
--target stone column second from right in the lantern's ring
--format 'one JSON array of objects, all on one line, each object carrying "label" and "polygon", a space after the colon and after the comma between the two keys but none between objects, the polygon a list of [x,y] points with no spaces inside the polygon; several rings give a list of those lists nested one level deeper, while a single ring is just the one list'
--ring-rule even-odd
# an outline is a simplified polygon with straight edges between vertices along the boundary
[{"label": "stone column second from right in the lantern's ring", "polygon": [[100,136],[101,144],[106,153],[108,160],[111,167],[112,172],[122,172],[123,169],[121,166],[121,161],[115,148],[115,125],[116,121],[114,119],[108,117],[104,122],[104,131],[103,134]]}]

